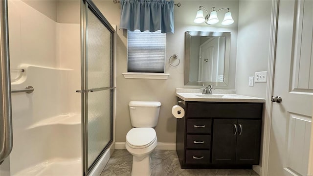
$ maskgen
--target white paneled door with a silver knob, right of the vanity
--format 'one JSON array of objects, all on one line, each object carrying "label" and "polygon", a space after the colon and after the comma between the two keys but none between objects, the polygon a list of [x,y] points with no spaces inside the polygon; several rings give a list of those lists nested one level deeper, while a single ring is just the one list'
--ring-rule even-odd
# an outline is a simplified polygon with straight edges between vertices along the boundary
[{"label": "white paneled door with a silver knob, right of the vanity", "polygon": [[313,1],[280,0],[268,176],[307,176],[313,99]]}]

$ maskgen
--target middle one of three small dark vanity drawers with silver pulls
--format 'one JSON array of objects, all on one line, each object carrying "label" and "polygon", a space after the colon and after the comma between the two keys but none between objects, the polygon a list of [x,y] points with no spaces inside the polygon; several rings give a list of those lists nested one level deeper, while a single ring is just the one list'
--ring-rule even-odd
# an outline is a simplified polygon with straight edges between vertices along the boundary
[{"label": "middle one of three small dark vanity drawers with silver pulls", "polygon": [[186,148],[189,149],[210,149],[211,135],[187,134]]}]

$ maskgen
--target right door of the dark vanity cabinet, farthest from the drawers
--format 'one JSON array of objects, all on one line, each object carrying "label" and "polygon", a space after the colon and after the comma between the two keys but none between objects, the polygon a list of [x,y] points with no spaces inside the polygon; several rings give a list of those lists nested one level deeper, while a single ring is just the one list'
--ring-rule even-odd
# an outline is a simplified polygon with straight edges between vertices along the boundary
[{"label": "right door of the dark vanity cabinet, farthest from the drawers", "polygon": [[238,120],[236,164],[259,164],[261,120]]}]

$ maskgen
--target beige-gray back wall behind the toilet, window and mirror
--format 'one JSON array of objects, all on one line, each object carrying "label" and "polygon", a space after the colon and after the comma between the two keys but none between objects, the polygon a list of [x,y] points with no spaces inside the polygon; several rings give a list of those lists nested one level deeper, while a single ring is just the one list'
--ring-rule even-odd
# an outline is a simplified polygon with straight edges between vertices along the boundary
[{"label": "beige-gray back wall behind the toilet, window and mirror", "polygon": [[[172,106],[176,104],[176,88],[192,88],[184,86],[184,32],[191,31],[223,31],[231,32],[231,70],[230,88],[235,86],[235,63],[237,44],[238,6],[237,0],[181,0],[181,7],[175,7],[175,33],[167,33],[165,72],[170,74],[167,80],[125,79],[122,73],[127,72],[127,31],[117,29],[117,71],[116,71],[116,141],[124,142],[126,133],[132,128],[128,103],[132,100],[160,101],[159,121],[156,126],[158,142],[176,142],[176,119],[171,114]],[[119,27],[120,4],[112,1],[94,1],[107,20]],[[199,6],[210,10],[229,7],[235,20],[230,26],[196,24],[193,22]],[[226,11],[219,12],[223,19]],[[178,54],[180,65],[171,67],[168,59]]]}]

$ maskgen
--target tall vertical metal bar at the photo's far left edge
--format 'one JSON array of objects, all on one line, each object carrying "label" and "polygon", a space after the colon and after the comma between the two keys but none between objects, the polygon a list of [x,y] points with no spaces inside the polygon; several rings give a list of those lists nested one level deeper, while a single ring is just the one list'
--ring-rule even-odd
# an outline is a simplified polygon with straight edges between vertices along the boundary
[{"label": "tall vertical metal bar at the photo's far left edge", "polygon": [[0,164],[13,147],[7,0],[0,0]]}]

